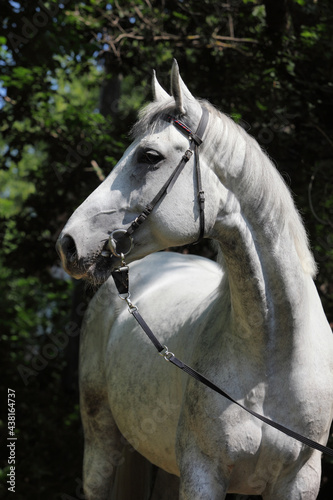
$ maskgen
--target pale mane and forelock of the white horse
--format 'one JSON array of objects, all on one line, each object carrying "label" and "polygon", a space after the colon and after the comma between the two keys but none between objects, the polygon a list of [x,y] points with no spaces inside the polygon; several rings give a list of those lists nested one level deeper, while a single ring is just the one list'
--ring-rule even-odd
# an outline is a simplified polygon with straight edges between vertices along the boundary
[{"label": "pale mane and forelock of the white horse", "polygon": [[[305,273],[312,277],[316,275],[317,265],[310,250],[308,236],[295,206],[291,192],[281,174],[258,142],[230,117],[220,112],[206,100],[198,100],[202,107],[206,107],[212,119],[209,121],[206,137],[216,144],[216,154],[223,156],[221,182],[230,189],[246,206],[251,198],[251,211],[255,211],[258,221],[271,223],[278,230],[288,228],[290,237],[294,241],[295,249]],[[175,113],[173,97],[162,102],[152,102],[144,107],[139,114],[139,120],[134,125],[131,135],[138,138],[166,125],[163,119],[165,114]],[[184,121],[191,127],[191,117],[186,116]],[[238,165],[238,171],[232,171],[233,156],[237,147],[244,150],[244,160]],[[202,151],[211,147],[211,141],[205,141]],[[255,205],[253,202],[255,200]]]}]

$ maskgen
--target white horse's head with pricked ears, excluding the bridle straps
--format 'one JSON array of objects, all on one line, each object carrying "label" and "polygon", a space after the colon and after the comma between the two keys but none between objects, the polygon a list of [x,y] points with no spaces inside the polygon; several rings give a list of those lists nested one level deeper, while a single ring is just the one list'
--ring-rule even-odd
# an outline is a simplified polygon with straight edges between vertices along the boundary
[{"label": "white horse's head with pricked ears, excluding the bridle straps", "polygon": [[[194,149],[194,154],[188,155],[191,158],[177,174],[179,180],[174,186],[172,182],[172,189],[171,186],[166,188],[167,196],[158,200],[145,224],[128,241],[123,238],[118,251],[110,251],[112,235],[125,234],[132,221],[172,176],[193,141],[191,130],[197,130],[203,108],[209,106],[192,96],[180,77],[176,61],[171,72],[171,95],[160,86],[155,73],[153,95],[154,101],[143,110],[133,128],[132,144],[105,181],[76,209],[59,236],[57,250],[63,267],[75,278],[103,282],[119,265],[122,253],[128,253],[126,261],[131,262],[198,239],[199,181],[195,169],[198,151]],[[185,122],[183,130],[173,126],[170,117],[180,118],[181,124]],[[204,135],[207,137],[207,130]],[[204,236],[212,230],[221,197],[215,176],[206,174],[206,170],[210,170],[205,154],[207,149],[204,142],[200,147],[206,192]]]}]

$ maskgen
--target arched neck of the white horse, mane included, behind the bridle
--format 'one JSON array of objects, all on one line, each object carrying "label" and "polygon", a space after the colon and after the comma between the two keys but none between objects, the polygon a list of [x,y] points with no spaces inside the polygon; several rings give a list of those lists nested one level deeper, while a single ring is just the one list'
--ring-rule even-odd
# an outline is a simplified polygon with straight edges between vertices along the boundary
[{"label": "arched neck of the white horse, mane included, behind the bridle", "polygon": [[[211,164],[227,189],[215,225],[227,270],[234,329],[267,341],[300,331],[314,269],[306,234],[280,175],[233,122]],[[290,337],[292,338],[292,337]]]}]

